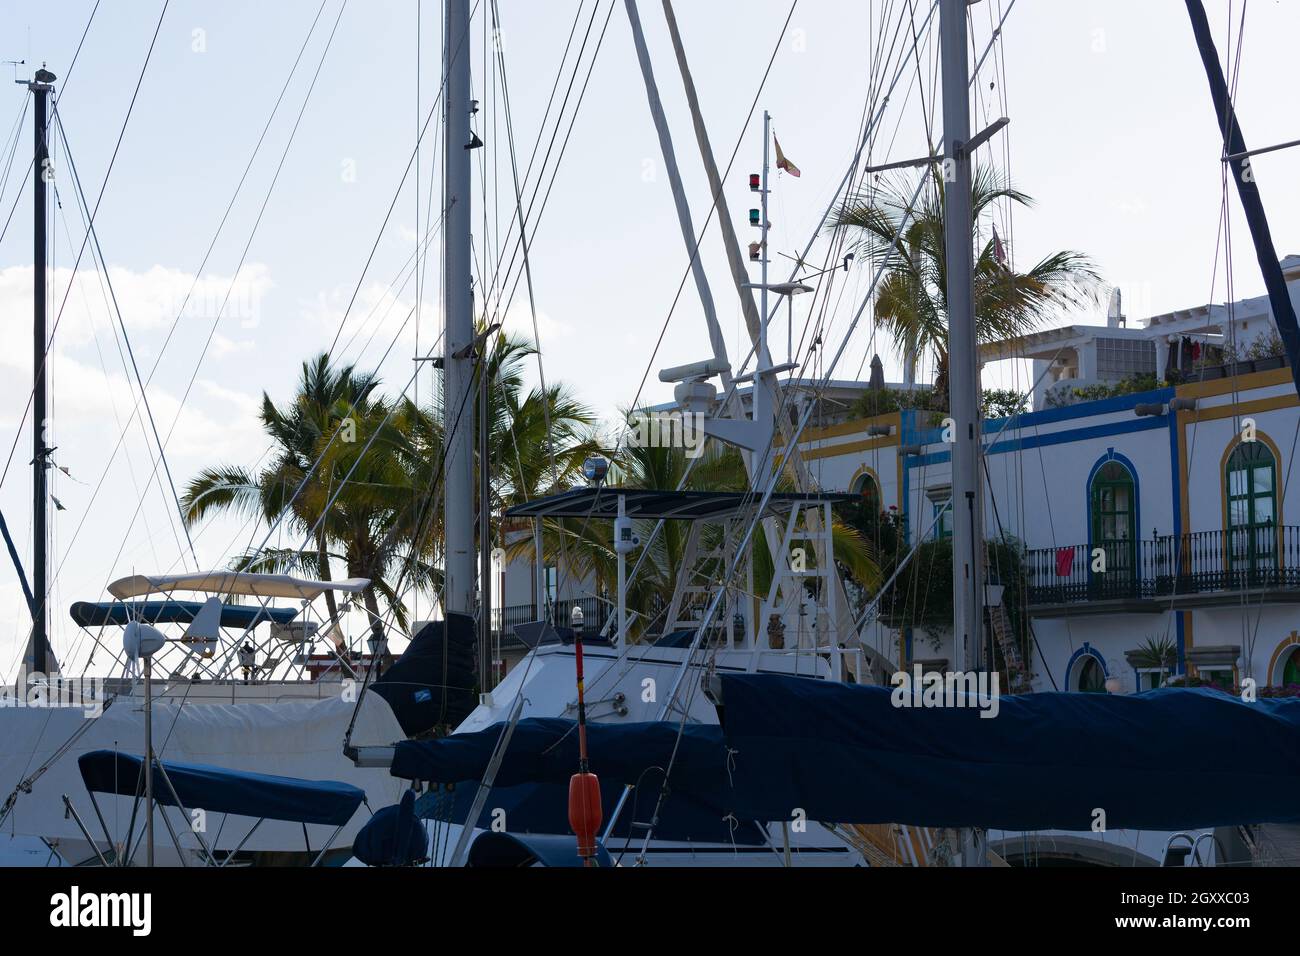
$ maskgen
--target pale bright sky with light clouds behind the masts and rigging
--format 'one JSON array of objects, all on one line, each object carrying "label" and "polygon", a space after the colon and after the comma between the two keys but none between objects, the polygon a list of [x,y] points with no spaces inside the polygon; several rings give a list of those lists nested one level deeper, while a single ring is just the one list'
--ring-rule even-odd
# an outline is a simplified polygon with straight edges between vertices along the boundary
[{"label": "pale bright sky with light clouds behind the masts and rigging", "polygon": [[[428,209],[437,221],[437,120],[419,146],[417,163],[412,153],[439,85],[439,3],[172,0],[160,27],[162,0],[101,0],[91,20],[94,7],[94,0],[0,3],[0,60],[26,61],[0,65],[0,77],[23,79],[48,64],[58,75],[66,134],[66,148],[57,142],[53,157],[58,202],[51,321],[57,313],[58,325],[48,427],[57,446],[55,463],[68,470],[53,475],[52,488],[64,509],[55,519],[52,548],[53,640],[64,657],[83,657],[86,650],[66,617],[72,601],[101,600],[107,583],[126,574],[224,566],[233,554],[268,540],[265,527],[220,519],[191,532],[191,554],[168,471],[183,486],[204,467],[255,468],[268,449],[256,421],[263,393],[285,401],[302,362],[332,343],[337,360],[377,369],[390,393],[403,390],[415,373],[412,356],[430,349],[441,325],[438,233],[432,234],[419,297],[407,269],[417,243],[430,239]],[[774,179],[774,269],[785,278],[790,260],[781,254],[794,255],[814,235],[853,157],[872,75],[884,72],[874,52],[881,36],[890,35],[881,33],[884,25],[892,29],[902,10],[915,7],[919,30],[927,4],[800,0],[784,36],[789,0],[680,0],[676,7],[719,164],[725,168],[738,146],[727,198],[741,242],[757,238],[744,220],[751,204],[746,174],[762,157],[763,109],[802,170],[800,178]],[[983,0],[971,8],[978,49],[1008,7],[1006,0]],[[1221,57],[1231,23],[1236,60],[1242,4],[1208,0],[1206,8]],[[490,261],[514,212],[514,194],[499,78],[493,83],[494,57],[485,68],[481,49],[486,8],[480,3],[474,9],[474,83],[482,101],[476,129],[488,142],[476,153],[485,164],[476,172],[476,202],[486,202],[474,212],[474,242],[480,259]],[[564,129],[545,166],[537,161],[543,182],[554,173],[554,185],[545,212],[530,220],[538,225],[529,261],[547,381],[568,384],[606,418],[638,401],[668,399],[671,386],[659,384],[655,372],[707,355],[698,298],[693,285],[682,287],[688,254],[630,29],[623,3],[607,17],[610,9],[602,0],[592,20],[590,0],[499,0],[521,166],[540,130],[542,153],[551,140],[554,109],[545,126],[542,117],[571,29],[578,23],[576,49],[592,23]],[[662,9],[653,0],[640,9],[699,229],[710,196]],[[87,21],[90,30],[69,74]],[[1234,65],[1247,142],[1294,139],[1297,130],[1283,96],[1291,88],[1300,4],[1254,0],[1244,23]],[[750,116],[774,48],[771,74]],[[933,52],[931,34],[919,52],[926,81],[918,86],[914,64],[904,70],[881,116],[872,161],[926,152]],[[572,53],[560,98],[571,69]],[[1056,250],[1082,251],[1106,282],[1123,290],[1131,323],[1223,300],[1230,274],[1235,297],[1262,293],[1231,194],[1230,232],[1240,255],[1231,272],[1222,254],[1216,258],[1223,238],[1222,150],[1180,0],[1018,0],[974,88],[975,127],[1004,111],[1011,120],[989,148],[989,161],[1035,199],[1032,208],[998,220],[1022,268]],[[31,516],[30,423],[23,424],[31,388],[32,211],[23,178],[31,116],[22,113],[27,96],[22,85],[0,86],[0,161],[8,160],[17,134],[14,163],[0,179],[0,215],[13,208],[0,237],[0,320],[9,346],[0,350],[0,451],[9,457],[16,442],[0,484],[0,510],[25,561]],[[1290,187],[1297,159],[1296,151],[1279,151],[1254,163],[1279,255],[1300,252],[1300,191]],[[73,164],[88,204],[98,204],[96,233],[125,338],[90,251],[72,271],[84,235]],[[399,189],[408,165],[412,172]],[[537,181],[534,169],[525,196]],[[231,196],[235,202],[213,243]],[[812,260],[820,261],[826,248],[823,238]],[[738,364],[748,339],[741,339],[738,298],[716,224],[701,255]],[[827,341],[835,346],[871,276],[861,267],[823,281],[832,278]],[[797,313],[800,323],[805,317]],[[1104,307],[1063,320],[1102,323]],[[523,282],[506,321],[511,330],[533,336]],[[776,337],[779,356],[783,339]],[[866,377],[872,352],[881,355],[887,377],[900,380],[898,359],[876,334],[867,310],[835,377]],[[138,410],[133,355],[147,380],[152,427]],[[989,369],[987,384],[1024,388],[1022,376],[1023,369]],[[416,380],[412,394],[416,389],[426,401],[428,377]],[[153,428],[166,449],[166,470],[156,466]],[[281,531],[269,544],[299,542]],[[0,672],[13,672],[26,633],[21,591],[5,564]]]}]

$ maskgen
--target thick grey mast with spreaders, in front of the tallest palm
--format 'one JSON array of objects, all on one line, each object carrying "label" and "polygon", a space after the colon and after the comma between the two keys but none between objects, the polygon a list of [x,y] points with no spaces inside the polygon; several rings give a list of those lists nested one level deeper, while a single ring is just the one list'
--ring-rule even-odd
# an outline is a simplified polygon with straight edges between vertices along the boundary
[{"label": "thick grey mast with spreaders, in front of the tallest palm", "polygon": [[965,670],[980,667],[983,541],[979,364],[975,355],[974,228],[966,0],[940,3],[944,73],[944,260],[948,272],[948,408],[953,419],[953,640]]}]

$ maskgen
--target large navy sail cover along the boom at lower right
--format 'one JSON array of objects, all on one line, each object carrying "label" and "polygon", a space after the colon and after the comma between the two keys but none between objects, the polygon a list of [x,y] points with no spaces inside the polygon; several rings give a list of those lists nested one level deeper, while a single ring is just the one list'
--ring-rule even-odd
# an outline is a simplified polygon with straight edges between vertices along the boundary
[{"label": "large navy sail cover along the boom at lower right", "polygon": [[[1209,689],[897,708],[892,691],[722,675],[733,810],[760,819],[1089,830],[1300,822],[1300,700]],[[972,701],[974,704],[974,701]],[[676,779],[676,775],[675,775]]]}]

